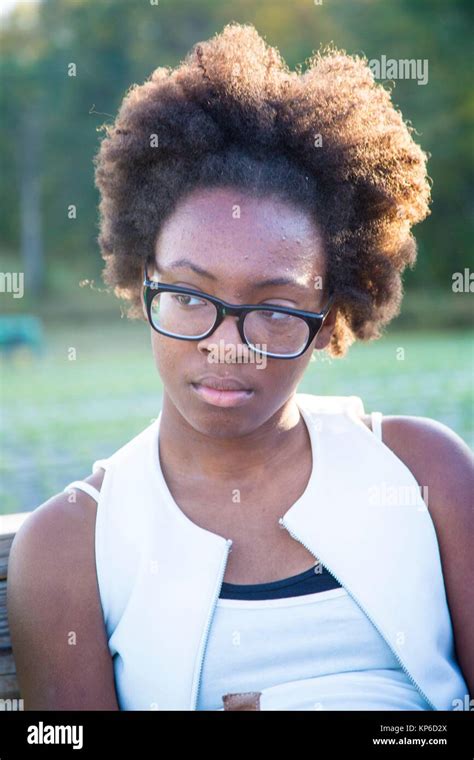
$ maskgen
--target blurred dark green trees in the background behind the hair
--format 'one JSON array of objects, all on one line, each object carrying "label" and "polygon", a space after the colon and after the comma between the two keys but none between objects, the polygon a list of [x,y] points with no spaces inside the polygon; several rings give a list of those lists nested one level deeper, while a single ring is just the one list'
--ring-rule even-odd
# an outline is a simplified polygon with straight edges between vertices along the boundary
[{"label": "blurred dark green trees in the background behind the hair", "polygon": [[427,59],[429,82],[397,80],[392,99],[430,152],[432,215],[414,232],[407,283],[451,288],[472,240],[472,3],[457,0],[43,0],[19,5],[0,30],[0,248],[41,286],[55,270],[96,277],[92,157],[128,87],[230,21],[253,23],[291,67],[333,41],[369,60]]}]

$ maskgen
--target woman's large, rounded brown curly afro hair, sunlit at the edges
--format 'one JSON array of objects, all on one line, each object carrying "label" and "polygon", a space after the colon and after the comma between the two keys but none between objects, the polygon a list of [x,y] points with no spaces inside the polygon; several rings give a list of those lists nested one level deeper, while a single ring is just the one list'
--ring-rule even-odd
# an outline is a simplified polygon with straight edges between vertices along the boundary
[{"label": "woman's large, rounded brown curly afro hair, sunlit at the edges", "polygon": [[303,206],[321,231],[337,319],[327,346],[381,337],[429,213],[427,154],[367,60],[333,45],[290,71],[251,25],[231,23],[125,94],[94,157],[102,277],[144,319],[143,264],[196,187],[234,186]]}]

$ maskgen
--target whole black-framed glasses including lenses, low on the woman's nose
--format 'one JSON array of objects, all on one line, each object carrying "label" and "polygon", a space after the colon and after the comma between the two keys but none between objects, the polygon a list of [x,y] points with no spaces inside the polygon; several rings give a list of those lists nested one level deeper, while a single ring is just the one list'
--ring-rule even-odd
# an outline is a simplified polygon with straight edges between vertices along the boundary
[{"label": "whole black-framed glasses including lenses, low on the woman's nose", "polygon": [[148,279],[145,266],[143,297],[150,325],[161,335],[178,340],[203,340],[224,317],[237,317],[237,329],[252,351],[275,359],[296,359],[324,324],[334,294],[322,312],[273,304],[231,304],[216,296],[181,285]]}]

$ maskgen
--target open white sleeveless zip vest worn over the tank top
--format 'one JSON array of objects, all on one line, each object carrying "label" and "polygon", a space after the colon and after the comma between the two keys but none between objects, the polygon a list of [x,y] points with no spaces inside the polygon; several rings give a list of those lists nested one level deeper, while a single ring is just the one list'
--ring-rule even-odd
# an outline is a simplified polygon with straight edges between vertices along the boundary
[{"label": "open white sleeveless zip vest worn over the tank top", "polygon": [[[362,422],[359,397],[298,393],[296,401],[316,477],[281,527],[347,589],[432,708],[460,709],[468,688],[434,525],[413,474]],[[232,544],[171,496],[159,465],[160,419],[93,464],[105,469],[96,570],[122,710],[196,709]]]}]

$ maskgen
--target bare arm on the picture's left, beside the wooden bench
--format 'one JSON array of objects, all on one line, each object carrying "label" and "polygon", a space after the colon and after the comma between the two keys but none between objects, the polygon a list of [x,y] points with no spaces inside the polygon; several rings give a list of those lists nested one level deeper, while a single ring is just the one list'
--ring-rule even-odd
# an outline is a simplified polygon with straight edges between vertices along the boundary
[{"label": "bare arm on the picture's left, beside the wooden bench", "polygon": [[[100,489],[103,471],[85,480]],[[118,710],[95,570],[96,502],[53,496],[16,534],[7,607],[26,710]]]}]

